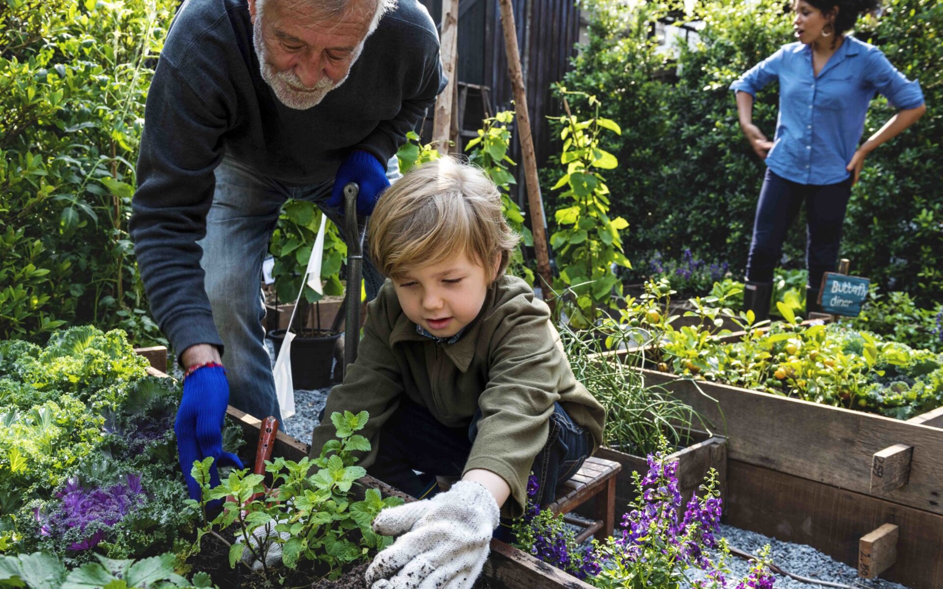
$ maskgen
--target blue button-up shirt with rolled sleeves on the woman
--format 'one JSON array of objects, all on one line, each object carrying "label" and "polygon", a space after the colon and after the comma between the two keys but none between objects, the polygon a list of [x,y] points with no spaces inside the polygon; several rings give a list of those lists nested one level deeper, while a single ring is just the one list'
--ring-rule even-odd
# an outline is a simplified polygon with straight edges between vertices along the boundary
[{"label": "blue button-up shirt with rolled sleeves on the woman", "polygon": [[779,80],[779,119],[766,159],[769,169],[799,184],[837,184],[850,172],[875,92],[900,109],[923,104],[918,82],[890,64],[877,47],[846,37],[817,77],[812,48],[784,45],[753,66],[730,88],[753,94]]}]

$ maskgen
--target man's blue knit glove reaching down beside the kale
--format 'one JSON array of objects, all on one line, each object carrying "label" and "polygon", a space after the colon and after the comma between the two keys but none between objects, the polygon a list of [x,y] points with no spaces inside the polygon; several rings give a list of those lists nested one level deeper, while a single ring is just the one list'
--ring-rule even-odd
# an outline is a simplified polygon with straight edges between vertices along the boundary
[{"label": "man's blue knit glove reaching down beside the kale", "polygon": [[184,379],[183,400],[177,409],[174,433],[190,499],[200,499],[200,484],[190,476],[194,461],[213,457],[210,487],[220,483],[218,466],[242,467],[239,456],[223,451],[223,419],[227,404],[229,383],[222,366],[197,368]]}]

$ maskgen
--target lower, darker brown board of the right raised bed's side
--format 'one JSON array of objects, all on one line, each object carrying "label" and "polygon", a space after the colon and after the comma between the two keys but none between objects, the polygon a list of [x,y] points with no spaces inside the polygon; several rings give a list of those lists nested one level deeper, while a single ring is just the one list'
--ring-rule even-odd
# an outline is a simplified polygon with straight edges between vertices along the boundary
[{"label": "lower, darker brown board of the right raised bed's side", "polygon": [[861,538],[891,523],[900,527],[897,563],[881,578],[913,589],[943,587],[943,515],[732,459],[723,521],[806,544],[855,568]]}]

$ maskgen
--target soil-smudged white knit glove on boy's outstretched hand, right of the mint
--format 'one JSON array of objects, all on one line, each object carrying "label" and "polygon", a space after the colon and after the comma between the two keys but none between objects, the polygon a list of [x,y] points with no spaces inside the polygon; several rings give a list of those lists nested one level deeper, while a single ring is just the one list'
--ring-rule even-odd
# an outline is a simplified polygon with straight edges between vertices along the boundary
[{"label": "soil-smudged white knit glove on boy's outstretched hand, right of the mint", "polygon": [[481,574],[498,502],[481,483],[462,481],[432,499],[385,509],[373,531],[403,534],[376,555],[365,575],[372,589],[464,589]]}]

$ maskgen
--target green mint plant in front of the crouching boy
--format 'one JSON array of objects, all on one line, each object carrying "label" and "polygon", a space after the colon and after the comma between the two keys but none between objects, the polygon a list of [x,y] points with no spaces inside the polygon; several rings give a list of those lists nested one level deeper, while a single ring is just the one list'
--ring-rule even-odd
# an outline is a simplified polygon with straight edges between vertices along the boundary
[{"label": "green mint plant in front of the crouching boy", "polygon": [[[367,474],[356,466],[357,451],[369,451],[370,441],[356,432],[368,420],[366,411],[334,413],[331,421],[338,439],[324,444],[321,455],[294,462],[276,458],[266,462],[273,476],[272,487],[264,476],[247,469],[232,470],[216,487],[209,486],[212,458],[194,462],[191,474],[203,486],[203,497],[190,500],[203,517],[190,553],[200,549],[207,535],[229,548],[229,564],[252,566],[243,559],[251,555],[265,581],[275,582],[285,568],[309,564],[328,579],[337,579],[347,564],[364,561],[372,552],[388,547],[393,539],[372,531],[371,523],[380,510],[403,503],[403,499],[382,498],[376,489],[367,489],[363,500],[352,500],[356,480]],[[227,499],[223,510],[209,519],[209,503]],[[280,559],[273,562],[272,555]],[[278,562],[280,561],[280,562]]]}]

